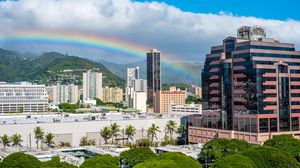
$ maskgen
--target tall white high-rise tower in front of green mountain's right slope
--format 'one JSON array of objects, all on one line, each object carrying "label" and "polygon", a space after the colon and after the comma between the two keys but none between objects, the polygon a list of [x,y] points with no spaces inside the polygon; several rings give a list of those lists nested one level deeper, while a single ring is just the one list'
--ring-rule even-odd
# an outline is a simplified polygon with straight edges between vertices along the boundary
[{"label": "tall white high-rise tower in front of green mountain's right slope", "polygon": [[103,100],[102,73],[88,70],[83,73],[83,101],[95,98]]}]

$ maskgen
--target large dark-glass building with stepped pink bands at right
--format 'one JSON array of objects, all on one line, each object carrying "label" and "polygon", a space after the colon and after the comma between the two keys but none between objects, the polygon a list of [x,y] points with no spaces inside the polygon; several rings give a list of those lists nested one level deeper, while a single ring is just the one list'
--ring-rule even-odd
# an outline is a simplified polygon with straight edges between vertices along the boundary
[{"label": "large dark-glass building with stepped pink bands at right", "polygon": [[[241,27],[211,48],[202,74],[203,114],[191,116],[190,142],[216,137],[261,144],[273,135],[300,134],[300,52]],[[296,137],[297,137],[296,136]]]}]

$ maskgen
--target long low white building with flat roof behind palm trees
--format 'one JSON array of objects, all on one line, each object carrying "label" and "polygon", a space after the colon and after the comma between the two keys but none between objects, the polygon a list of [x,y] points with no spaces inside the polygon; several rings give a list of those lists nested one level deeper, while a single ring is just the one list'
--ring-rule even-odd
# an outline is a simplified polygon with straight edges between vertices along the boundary
[{"label": "long low white building with flat roof behind palm trees", "polygon": [[[155,141],[163,140],[164,129],[169,120],[180,123],[180,116],[148,116],[128,113],[87,113],[87,114],[51,114],[51,115],[10,115],[0,116],[0,135],[12,135],[14,133],[22,136],[23,147],[36,147],[34,128],[40,126],[44,132],[54,135],[54,143],[68,143],[70,146],[79,146],[80,139],[86,136],[95,143],[104,144],[104,139],[99,131],[116,122],[120,130],[132,125],[136,129],[132,142],[147,138],[147,130],[155,123],[160,132],[157,133]],[[174,134],[174,136],[177,136]],[[126,138],[119,132],[118,138]],[[122,143],[122,141],[119,141]],[[43,144],[45,145],[45,144]]]}]

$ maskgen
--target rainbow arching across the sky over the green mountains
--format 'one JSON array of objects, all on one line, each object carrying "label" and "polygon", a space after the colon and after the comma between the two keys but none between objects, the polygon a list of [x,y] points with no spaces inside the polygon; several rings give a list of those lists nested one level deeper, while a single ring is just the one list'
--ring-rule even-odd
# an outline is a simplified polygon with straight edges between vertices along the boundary
[{"label": "rainbow arching across the sky over the green mountains", "polygon": [[[120,57],[128,56],[135,58],[145,58],[149,47],[139,46],[128,41],[115,38],[107,38],[95,34],[83,34],[73,32],[55,32],[40,30],[18,30],[12,34],[1,36],[0,42],[13,44],[35,44],[35,45],[55,45],[68,46],[74,48],[92,49],[105,51]],[[174,62],[183,62],[167,54],[162,55],[162,64],[173,69],[178,75],[186,75],[188,70]],[[193,74],[195,80],[199,80],[200,74]]]}]

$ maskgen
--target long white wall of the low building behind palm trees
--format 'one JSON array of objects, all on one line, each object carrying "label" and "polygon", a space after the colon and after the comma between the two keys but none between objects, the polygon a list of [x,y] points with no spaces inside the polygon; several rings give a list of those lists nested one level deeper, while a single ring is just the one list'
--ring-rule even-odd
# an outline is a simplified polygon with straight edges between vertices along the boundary
[{"label": "long white wall of the low building behind palm trees", "polygon": [[[89,139],[94,139],[96,144],[104,143],[100,137],[100,130],[109,126],[110,124],[117,122],[121,126],[121,130],[127,125],[131,124],[136,128],[136,135],[134,136],[134,142],[142,137],[147,137],[147,129],[152,123],[155,123],[160,132],[157,134],[157,141],[161,141],[164,138],[164,129],[169,120],[175,121],[178,125],[180,123],[180,117],[175,118],[161,118],[161,119],[131,119],[131,120],[118,120],[118,121],[83,121],[83,122],[61,122],[61,123],[31,123],[31,124],[5,124],[0,125],[0,135],[7,134],[12,136],[18,133],[22,136],[24,147],[36,147],[34,139],[34,128],[40,126],[45,133],[51,132],[55,135],[54,141],[58,145],[59,142],[69,142],[72,146],[79,146],[80,139],[83,136],[88,136]],[[122,135],[122,133],[120,133]],[[176,136],[176,135],[174,135]],[[119,137],[120,138],[120,137]]]}]

